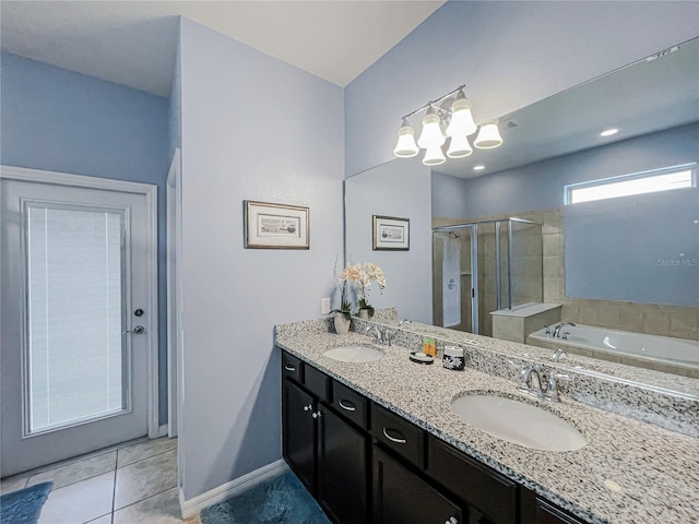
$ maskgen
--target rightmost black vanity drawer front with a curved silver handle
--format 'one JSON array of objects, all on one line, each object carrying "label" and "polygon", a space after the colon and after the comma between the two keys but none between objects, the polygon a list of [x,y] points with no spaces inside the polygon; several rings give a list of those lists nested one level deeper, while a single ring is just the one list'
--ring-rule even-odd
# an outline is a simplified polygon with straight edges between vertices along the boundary
[{"label": "rightmost black vanity drawer front with a curved silver handle", "polygon": [[420,469],[425,466],[425,432],[394,413],[371,403],[371,434],[384,448]]}]

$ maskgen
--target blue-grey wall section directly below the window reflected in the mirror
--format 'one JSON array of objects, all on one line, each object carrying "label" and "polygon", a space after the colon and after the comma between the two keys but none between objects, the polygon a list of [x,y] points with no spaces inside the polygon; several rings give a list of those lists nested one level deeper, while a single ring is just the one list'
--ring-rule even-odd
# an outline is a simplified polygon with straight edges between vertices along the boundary
[{"label": "blue-grey wall section directly below the window reflected in the mirror", "polygon": [[566,296],[699,307],[699,189],[567,205]]}]

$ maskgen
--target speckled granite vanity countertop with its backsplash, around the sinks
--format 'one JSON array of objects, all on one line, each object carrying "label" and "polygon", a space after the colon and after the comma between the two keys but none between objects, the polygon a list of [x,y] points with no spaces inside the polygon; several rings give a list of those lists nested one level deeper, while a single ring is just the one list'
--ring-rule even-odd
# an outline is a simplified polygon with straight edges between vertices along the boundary
[{"label": "speckled granite vanity countertop with its backsplash, around the sinks", "polygon": [[[362,331],[369,323],[355,319],[353,324],[353,329]],[[542,355],[534,355],[537,352],[548,354],[541,348],[461,334],[464,340],[472,338],[481,346],[463,344],[467,347],[465,371],[450,371],[439,364],[412,364],[407,359],[408,350],[419,347],[423,327],[431,326],[407,324],[407,329],[403,327],[396,329],[393,346],[381,347],[383,358],[367,364],[340,362],[323,356],[330,347],[371,342],[357,332],[347,335],[332,333],[331,321],[277,325],[276,344],[589,522],[699,521],[699,498],[696,493],[696,486],[699,486],[699,440],[696,437],[595,409],[572,402],[565,394],[560,404],[549,404],[519,393],[516,383],[501,376],[512,379],[521,362],[541,359]],[[419,333],[415,331],[418,327]],[[453,342],[437,341],[438,349],[445,343]],[[485,347],[487,344],[490,347]],[[616,366],[619,370],[625,368]],[[593,376],[588,379],[590,382],[601,380]],[[584,389],[588,379],[576,377],[571,386]],[[633,389],[629,384],[623,385]],[[490,392],[540,405],[578,428],[588,444],[574,452],[545,452],[490,437],[461,420],[451,409],[454,397],[476,392]],[[585,394],[602,394],[604,397],[607,393],[601,389]],[[617,393],[615,390],[608,396]],[[694,408],[689,418],[694,417],[696,424],[697,401],[692,403],[689,395],[686,396],[685,408]],[[641,394],[637,402],[647,400]],[[628,403],[625,406],[628,407]],[[620,490],[607,487],[609,484],[614,487],[613,483]]]}]

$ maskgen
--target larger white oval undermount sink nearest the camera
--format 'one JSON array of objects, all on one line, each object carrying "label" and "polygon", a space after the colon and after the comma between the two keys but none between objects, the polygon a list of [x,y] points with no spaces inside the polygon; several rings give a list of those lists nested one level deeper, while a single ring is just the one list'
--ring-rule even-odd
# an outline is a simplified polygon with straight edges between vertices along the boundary
[{"label": "larger white oval undermount sink nearest the camera", "polygon": [[454,398],[459,417],[508,442],[543,451],[574,451],[585,438],[562,418],[524,402],[497,395],[474,394]]}]

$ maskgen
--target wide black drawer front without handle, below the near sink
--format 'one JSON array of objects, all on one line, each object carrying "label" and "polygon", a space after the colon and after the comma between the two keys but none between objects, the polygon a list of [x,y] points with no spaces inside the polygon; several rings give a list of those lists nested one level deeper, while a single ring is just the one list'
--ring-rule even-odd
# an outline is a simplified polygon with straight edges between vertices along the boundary
[{"label": "wide black drawer front without handle, below the near sink", "polygon": [[495,524],[517,522],[517,484],[429,436],[427,474]]}]

